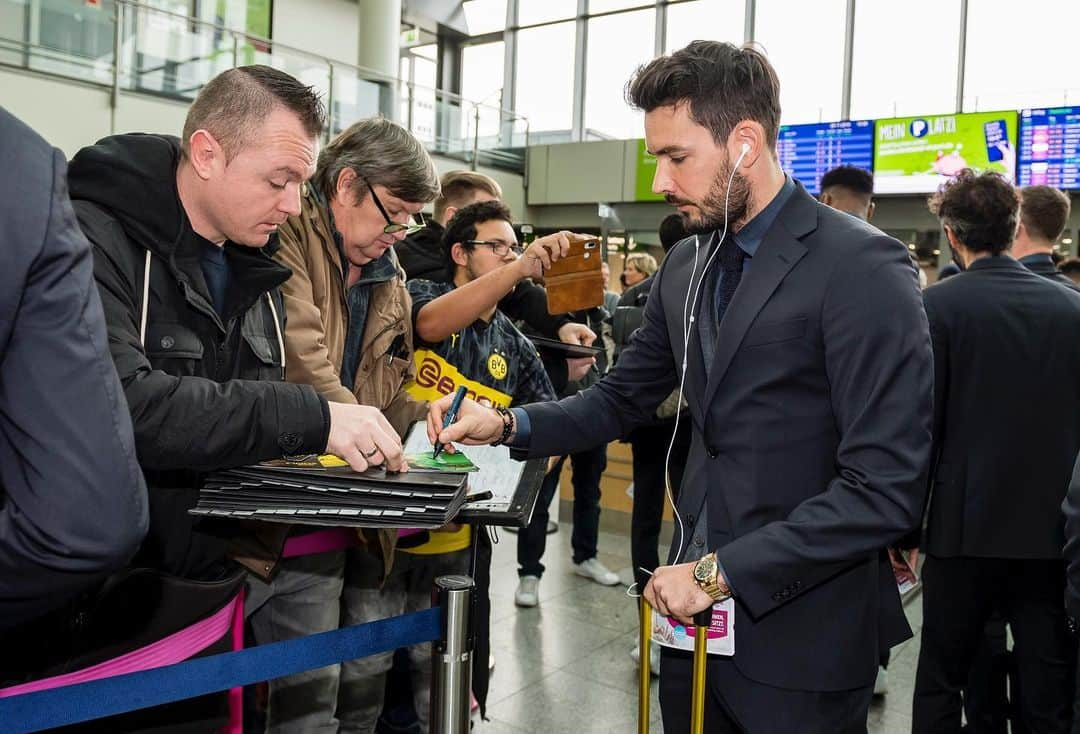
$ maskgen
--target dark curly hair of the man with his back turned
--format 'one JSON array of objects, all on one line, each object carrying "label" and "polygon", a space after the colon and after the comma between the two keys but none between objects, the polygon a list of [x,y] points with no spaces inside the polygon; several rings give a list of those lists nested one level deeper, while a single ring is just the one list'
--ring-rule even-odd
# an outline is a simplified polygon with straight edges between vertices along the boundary
[{"label": "dark curly hair of the man with his back turned", "polygon": [[1016,236],[1020,194],[1001,174],[964,168],[930,196],[929,206],[972,252],[1000,255]]}]

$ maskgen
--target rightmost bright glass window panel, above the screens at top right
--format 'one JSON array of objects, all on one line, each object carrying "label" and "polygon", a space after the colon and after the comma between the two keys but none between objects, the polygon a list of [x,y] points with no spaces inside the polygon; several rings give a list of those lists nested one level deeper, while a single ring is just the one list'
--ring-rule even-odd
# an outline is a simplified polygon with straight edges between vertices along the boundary
[{"label": "rightmost bright glass window panel, above the screens at top right", "polygon": [[1026,0],[1018,12],[973,1],[968,11],[963,109],[1077,104],[1080,3]]}]

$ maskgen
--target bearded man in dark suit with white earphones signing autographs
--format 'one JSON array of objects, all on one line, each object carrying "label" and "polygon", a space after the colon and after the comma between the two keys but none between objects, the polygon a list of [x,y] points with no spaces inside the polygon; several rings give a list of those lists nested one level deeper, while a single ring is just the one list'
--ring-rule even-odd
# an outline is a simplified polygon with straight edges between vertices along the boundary
[{"label": "bearded man in dark suit with white earphones signing autographs", "polygon": [[[467,404],[446,430],[440,400],[429,434],[556,454],[625,435],[685,383],[681,532],[645,594],[684,623],[733,597],[705,730],[863,732],[880,651],[910,636],[885,548],[917,524],[929,462],[915,270],[784,175],[779,82],[758,51],[696,41],[640,69],[629,97],[652,188],[697,235],[664,259],[599,383],[501,413]],[[664,650],[660,696],[664,731],[688,731],[689,653]]]}]

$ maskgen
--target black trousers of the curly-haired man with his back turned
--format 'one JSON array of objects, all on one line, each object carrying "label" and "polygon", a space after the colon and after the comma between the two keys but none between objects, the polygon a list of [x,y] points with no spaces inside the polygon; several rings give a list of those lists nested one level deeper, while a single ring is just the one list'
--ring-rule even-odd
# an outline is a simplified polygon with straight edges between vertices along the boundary
[{"label": "black trousers of the curly-haired man with his back turned", "polygon": [[1067,733],[1076,640],[1069,635],[1063,603],[1064,562],[928,555],[922,584],[922,643],[912,731],[960,731],[961,691],[985,644],[986,622],[998,611],[1015,642],[1022,725],[1041,734]]}]

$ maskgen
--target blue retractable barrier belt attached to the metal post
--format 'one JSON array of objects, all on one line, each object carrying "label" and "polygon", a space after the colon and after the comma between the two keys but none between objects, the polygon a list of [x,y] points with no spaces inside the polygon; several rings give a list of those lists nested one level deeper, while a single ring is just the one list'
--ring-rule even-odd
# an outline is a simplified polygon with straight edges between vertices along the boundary
[{"label": "blue retractable barrier belt attached to the metal post", "polygon": [[442,637],[440,609],[152,670],[0,698],[5,732],[33,732],[171,704]]}]

